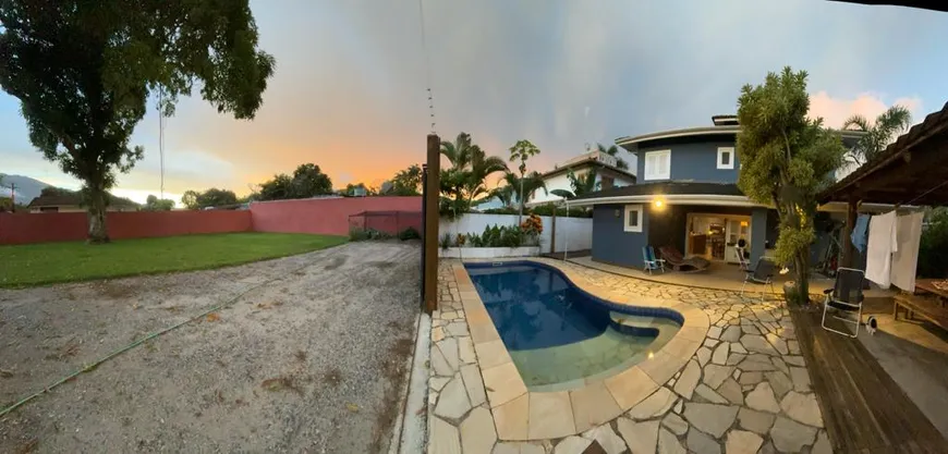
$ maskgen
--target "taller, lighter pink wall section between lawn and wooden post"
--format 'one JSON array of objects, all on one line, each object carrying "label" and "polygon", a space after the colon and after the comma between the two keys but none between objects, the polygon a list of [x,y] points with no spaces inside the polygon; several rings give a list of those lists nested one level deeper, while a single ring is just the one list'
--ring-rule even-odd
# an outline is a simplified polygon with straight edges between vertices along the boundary
[{"label": "taller, lighter pink wall section between lawn and wooden post", "polygon": [[[363,211],[422,211],[421,197],[345,197],[325,199],[275,200],[251,204],[257,232],[320,233],[348,235],[349,217]],[[406,213],[403,213],[406,214]],[[372,219],[372,218],[369,218]],[[421,231],[421,216],[413,224]],[[379,222],[385,222],[378,220]],[[369,220],[367,226],[373,226]],[[386,226],[391,221],[386,223]],[[408,226],[405,225],[405,226]],[[404,229],[404,228],[402,228]],[[389,232],[396,233],[396,232]]]}]

